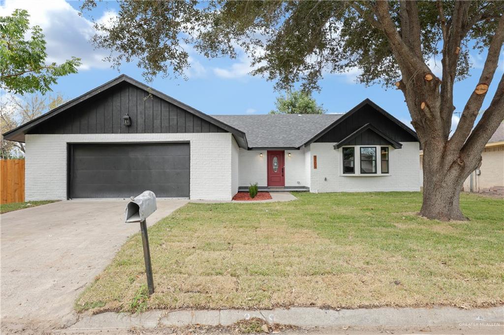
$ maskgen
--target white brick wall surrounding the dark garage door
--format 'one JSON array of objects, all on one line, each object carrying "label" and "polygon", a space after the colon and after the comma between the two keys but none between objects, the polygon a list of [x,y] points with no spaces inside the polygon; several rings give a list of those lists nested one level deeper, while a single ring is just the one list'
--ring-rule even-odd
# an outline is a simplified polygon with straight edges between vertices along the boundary
[{"label": "white brick wall surrounding the dark garage door", "polygon": [[[235,194],[230,133],[26,135],[26,200],[67,199],[67,143],[177,142],[191,145],[191,199]],[[236,182],[235,182],[236,183]]]}]

